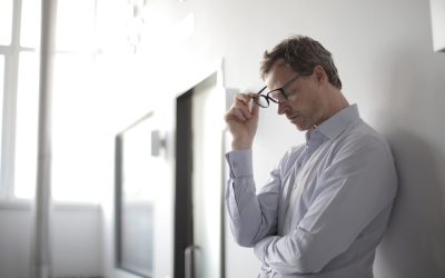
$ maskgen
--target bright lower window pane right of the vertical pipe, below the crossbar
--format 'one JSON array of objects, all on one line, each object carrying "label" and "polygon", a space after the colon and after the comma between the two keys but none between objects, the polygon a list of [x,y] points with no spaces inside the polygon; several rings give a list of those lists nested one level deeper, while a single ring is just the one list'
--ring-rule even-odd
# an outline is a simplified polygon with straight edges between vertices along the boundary
[{"label": "bright lower window pane right of the vertical pipe, below the crossbar", "polygon": [[92,59],[57,54],[52,95],[52,196],[56,200],[97,202],[101,196],[100,157]]}]

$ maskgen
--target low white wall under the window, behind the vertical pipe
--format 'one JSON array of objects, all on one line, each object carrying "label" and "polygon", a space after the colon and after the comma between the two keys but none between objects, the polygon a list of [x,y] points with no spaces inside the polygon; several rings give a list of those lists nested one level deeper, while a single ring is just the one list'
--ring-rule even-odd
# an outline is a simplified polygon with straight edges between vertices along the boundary
[{"label": "low white wall under the window, behind the vertical pipe", "polygon": [[[52,215],[55,277],[102,276],[102,227],[98,206],[57,205]],[[0,203],[0,278],[27,278],[31,267],[30,206]]]}]

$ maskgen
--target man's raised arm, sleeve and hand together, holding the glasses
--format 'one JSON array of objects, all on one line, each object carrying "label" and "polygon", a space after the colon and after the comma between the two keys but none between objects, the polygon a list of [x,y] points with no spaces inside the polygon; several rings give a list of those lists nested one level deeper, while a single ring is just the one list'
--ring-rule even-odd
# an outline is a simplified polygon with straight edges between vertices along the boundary
[{"label": "man's raised arm, sleeve and hand together, holding the glasses", "polygon": [[227,182],[226,202],[230,227],[235,239],[241,246],[254,244],[276,230],[279,183],[277,172],[273,173],[263,195],[256,195],[251,145],[258,126],[259,107],[249,95],[237,93],[225,120],[233,137],[227,153],[230,179]]}]

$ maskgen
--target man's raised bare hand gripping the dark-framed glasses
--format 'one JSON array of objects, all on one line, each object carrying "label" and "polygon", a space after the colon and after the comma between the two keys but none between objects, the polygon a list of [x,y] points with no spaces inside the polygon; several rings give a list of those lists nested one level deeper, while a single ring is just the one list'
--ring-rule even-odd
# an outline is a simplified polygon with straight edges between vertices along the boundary
[{"label": "man's raised bare hand gripping the dark-framed glasses", "polygon": [[250,149],[258,127],[259,107],[245,93],[235,95],[234,105],[225,120],[229,127],[233,150]]}]

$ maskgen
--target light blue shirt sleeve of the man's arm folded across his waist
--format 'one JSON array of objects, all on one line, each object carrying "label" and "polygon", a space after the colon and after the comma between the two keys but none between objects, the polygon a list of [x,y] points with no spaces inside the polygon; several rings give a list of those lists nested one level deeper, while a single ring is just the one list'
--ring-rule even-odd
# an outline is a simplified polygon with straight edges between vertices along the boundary
[{"label": "light blue shirt sleeve of the man's arm folded across his waist", "polygon": [[396,188],[387,145],[366,140],[345,146],[320,175],[297,228],[258,241],[255,254],[279,274],[319,272],[392,206]]}]

